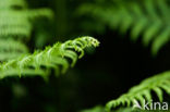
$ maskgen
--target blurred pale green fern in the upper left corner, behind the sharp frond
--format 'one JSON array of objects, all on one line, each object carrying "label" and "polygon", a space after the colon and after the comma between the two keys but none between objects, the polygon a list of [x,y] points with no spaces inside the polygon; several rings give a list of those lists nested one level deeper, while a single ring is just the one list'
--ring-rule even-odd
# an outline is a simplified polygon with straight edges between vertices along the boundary
[{"label": "blurred pale green fern in the upper left corner, behind the sharp frond", "polygon": [[28,10],[24,0],[0,0],[0,61],[28,53],[28,41],[36,17],[52,18],[49,9]]}]

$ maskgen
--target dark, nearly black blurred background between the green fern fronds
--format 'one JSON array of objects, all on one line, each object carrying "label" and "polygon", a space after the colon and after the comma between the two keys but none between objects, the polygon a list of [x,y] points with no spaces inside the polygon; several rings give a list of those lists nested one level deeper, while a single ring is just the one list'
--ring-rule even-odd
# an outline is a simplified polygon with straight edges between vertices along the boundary
[{"label": "dark, nearly black blurred background between the green fern fronds", "polygon": [[[0,112],[80,112],[98,104],[105,105],[144,78],[169,70],[170,43],[154,58],[150,49],[143,47],[142,40],[133,42],[129,39],[130,30],[122,34],[100,21],[101,17],[84,14],[80,10],[81,5],[94,3],[105,12],[108,5],[114,7],[111,0],[27,2],[29,9],[49,8],[54,12],[51,22],[39,20],[34,23],[32,37],[36,38],[32,38],[28,43],[32,51],[84,35],[98,38],[101,46],[96,51],[87,49],[87,57],[78,61],[73,70],[64,76],[51,75],[48,83],[40,77],[10,77],[1,80]],[[85,8],[89,10],[88,5]],[[82,112],[104,112],[104,109],[97,107]]]}]

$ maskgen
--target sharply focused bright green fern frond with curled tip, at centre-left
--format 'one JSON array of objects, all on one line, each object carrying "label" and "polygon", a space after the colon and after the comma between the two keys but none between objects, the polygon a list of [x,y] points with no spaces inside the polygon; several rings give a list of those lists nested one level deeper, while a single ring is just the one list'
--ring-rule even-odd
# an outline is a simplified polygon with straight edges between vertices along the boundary
[{"label": "sharply focused bright green fern frond with curled tip, at centre-left", "polygon": [[[40,75],[47,77],[42,71],[48,71],[49,67],[54,70],[61,70],[61,73],[71,65],[73,66],[77,58],[84,55],[84,49],[86,47],[98,47],[98,40],[92,37],[82,37],[74,40],[69,40],[64,43],[57,42],[53,47],[47,47],[44,51],[35,51],[34,54],[25,55],[16,60],[8,61],[0,65],[1,78],[7,76],[24,76],[24,75]],[[77,52],[77,53],[76,53]],[[78,54],[80,53],[80,54]],[[34,74],[34,71],[35,74]]]}]

